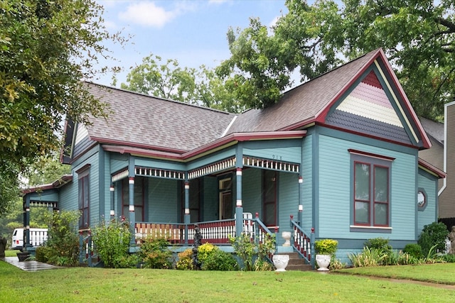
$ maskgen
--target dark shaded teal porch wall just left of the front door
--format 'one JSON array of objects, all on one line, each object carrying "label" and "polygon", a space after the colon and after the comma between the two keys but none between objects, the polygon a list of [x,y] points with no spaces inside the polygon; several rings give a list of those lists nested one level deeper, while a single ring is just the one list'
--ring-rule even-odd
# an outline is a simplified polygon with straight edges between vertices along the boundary
[{"label": "dark shaded teal porch wall just left of the front door", "polygon": [[202,212],[201,221],[218,220],[218,199],[220,199],[218,197],[218,178],[203,177],[201,190],[203,191],[203,201],[200,203],[200,211]]}]

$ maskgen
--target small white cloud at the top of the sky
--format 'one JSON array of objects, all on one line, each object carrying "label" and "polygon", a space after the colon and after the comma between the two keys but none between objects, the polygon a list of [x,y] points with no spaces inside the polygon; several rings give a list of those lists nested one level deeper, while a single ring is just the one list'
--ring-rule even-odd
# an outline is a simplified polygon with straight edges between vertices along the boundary
[{"label": "small white cloud at the top of the sky", "polygon": [[119,19],[129,23],[137,23],[142,26],[161,28],[164,24],[176,18],[180,10],[166,11],[163,7],[156,6],[151,1],[141,1],[131,4],[126,11],[119,13]]}]

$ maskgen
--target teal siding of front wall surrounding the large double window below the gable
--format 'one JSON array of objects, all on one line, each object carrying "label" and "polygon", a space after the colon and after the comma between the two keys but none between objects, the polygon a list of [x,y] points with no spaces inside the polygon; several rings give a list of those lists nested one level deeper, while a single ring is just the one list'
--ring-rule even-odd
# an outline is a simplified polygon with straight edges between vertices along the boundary
[{"label": "teal siding of front wall surrounding the large double window below the gable", "polygon": [[[395,158],[391,171],[390,226],[392,233],[350,232],[350,153],[363,150]],[[416,152],[417,154],[417,152]],[[414,240],[416,155],[387,150],[331,136],[319,137],[319,238],[377,238]]]}]

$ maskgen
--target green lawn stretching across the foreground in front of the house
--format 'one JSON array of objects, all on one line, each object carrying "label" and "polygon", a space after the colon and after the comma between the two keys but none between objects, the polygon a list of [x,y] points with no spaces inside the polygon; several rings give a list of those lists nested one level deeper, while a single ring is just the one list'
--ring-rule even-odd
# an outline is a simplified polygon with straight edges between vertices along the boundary
[{"label": "green lawn stretching across the foreground in front of the house", "polygon": [[[393,275],[404,272],[455,282],[446,275],[455,271],[451,263],[388,268]],[[371,268],[365,274],[382,269]],[[104,268],[24,272],[0,261],[0,281],[1,302],[455,302],[454,290],[320,272]]]}]

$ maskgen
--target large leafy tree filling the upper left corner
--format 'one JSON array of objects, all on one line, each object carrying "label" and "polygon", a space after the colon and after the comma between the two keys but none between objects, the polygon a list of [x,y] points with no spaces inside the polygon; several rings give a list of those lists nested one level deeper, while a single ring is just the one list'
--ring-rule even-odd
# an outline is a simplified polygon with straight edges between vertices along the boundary
[{"label": "large leafy tree filling the upper left corner", "polygon": [[16,196],[18,174],[57,150],[63,119],[88,123],[105,104],[87,92],[105,40],[95,0],[0,0],[0,216]]}]

